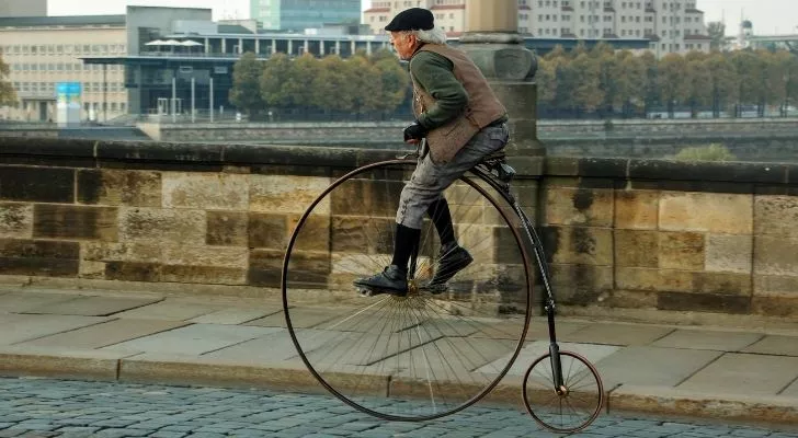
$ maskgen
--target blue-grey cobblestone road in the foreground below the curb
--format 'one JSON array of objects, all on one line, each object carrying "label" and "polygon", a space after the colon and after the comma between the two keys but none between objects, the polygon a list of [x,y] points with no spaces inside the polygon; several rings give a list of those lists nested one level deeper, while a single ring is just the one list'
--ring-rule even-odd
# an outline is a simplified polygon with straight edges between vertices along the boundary
[{"label": "blue-grey cobblestone road in the foreground below the curb", "polygon": [[[0,379],[2,437],[551,437],[526,414],[472,406],[428,423],[391,423],[331,396],[59,381]],[[580,437],[798,437],[764,426],[601,416]]]}]

